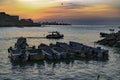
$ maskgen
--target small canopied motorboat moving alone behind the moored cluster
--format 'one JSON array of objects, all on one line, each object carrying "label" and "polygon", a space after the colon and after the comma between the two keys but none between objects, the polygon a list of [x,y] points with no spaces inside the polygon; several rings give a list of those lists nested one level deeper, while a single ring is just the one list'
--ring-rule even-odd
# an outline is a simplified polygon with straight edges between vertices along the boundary
[{"label": "small canopied motorboat moving alone behind the moored cluster", "polygon": [[50,34],[46,36],[47,39],[62,39],[63,34],[60,34],[58,31],[49,32]]}]

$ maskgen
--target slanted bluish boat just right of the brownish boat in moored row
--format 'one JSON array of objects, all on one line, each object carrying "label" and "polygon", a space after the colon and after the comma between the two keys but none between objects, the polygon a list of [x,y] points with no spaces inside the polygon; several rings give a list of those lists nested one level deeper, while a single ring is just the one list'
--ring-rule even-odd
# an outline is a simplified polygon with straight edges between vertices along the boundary
[{"label": "slanted bluish boat just right of the brownish boat in moored row", "polygon": [[54,59],[54,53],[48,45],[41,43],[38,46],[38,49],[41,49],[41,51],[45,55],[46,59],[49,59],[49,60]]}]

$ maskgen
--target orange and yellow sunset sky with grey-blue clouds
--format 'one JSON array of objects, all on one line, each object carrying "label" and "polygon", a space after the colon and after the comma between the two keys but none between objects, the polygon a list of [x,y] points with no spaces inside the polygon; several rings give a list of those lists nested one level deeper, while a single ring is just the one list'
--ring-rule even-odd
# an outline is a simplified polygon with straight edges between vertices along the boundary
[{"label": "orange and yellow sunset sky with grey-blue clouds", "polygon": [[0,12],[34,21],[120,24],[120,0],[0,0]]}]

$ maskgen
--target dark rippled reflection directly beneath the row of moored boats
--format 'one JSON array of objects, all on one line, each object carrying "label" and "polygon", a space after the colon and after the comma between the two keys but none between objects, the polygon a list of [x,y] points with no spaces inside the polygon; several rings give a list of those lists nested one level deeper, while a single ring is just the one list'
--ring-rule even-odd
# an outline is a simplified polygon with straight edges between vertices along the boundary
[{"label": "dark rippled reflection directly beneath the row of moored boats", "polygon": [[52,68],[56,68],[58,67],[58,65],[66,65],[69,66],[71,65],[71,67],[73,67],[73,65],[80,64],[81,62],[83,62],[84,64],[97,64],[97,63],[104,63],[107,64],[108,60],[89,60],[89,59],[64,59],[64,60],[54,60],[54,61],[50,61],[50,60],[42,60],[42,61],[28,61],[28,62],[11,62],[11,66],[12,69],[16,68],[16,67],[21,67],[24,68],[26,66],[31,66],[34,67],[35,65],[39,66],[44,66],[44,67],[48,67],[49,65]]}]

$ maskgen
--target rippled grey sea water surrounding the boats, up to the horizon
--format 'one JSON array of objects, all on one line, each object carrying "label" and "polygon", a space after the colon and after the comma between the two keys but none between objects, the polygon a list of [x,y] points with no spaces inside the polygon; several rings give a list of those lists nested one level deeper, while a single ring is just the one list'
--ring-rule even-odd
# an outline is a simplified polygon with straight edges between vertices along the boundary
[{"label": "rippled grey sea water surrounding the boats, up to the horizon", "polygon": [[[109,50],[108,61],[64,61],[35,62],[22,65],[12,64],[7,49],[14,46],[18,37],[28,37],[30,45],[55,43],[57,41],[76,41],[89,46],[101,39],[99,32],[109,32],[116,25],[73,25],[47,26],[34,28],[0,28],[0,80],[120,80],[120,49],[101,46]],[[44,37],[50,31],[60,31],[65,35],[61,40],[47,40]],[[31,38],[30,38],[31,37]]]}]

